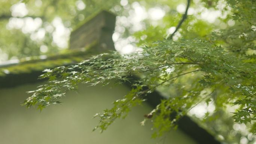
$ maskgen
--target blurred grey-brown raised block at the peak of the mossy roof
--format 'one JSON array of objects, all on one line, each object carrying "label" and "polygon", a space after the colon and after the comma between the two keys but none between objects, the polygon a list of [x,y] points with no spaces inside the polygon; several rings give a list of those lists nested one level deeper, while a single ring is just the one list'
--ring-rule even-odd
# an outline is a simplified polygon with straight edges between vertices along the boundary
[{"label": "blurred grey-brown raised block at the peak of the mossy roof", "polygon": [[70,49],[83,49],[97,43],[94,47],[97,51],[115,50],[112,40],[115,22],[115,15],[101,11],[71,33]]}]

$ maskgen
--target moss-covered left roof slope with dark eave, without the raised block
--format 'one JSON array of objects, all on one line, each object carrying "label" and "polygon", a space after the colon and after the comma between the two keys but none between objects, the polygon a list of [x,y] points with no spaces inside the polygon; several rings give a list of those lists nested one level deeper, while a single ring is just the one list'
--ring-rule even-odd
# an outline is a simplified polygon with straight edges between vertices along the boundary
[{"label": "moss-covered left roof slope with dark eave, without the raised block", "polygon": [[0,88],[7,88],[39,81],[38,76],[46,68],[54,68],[63,65],[70,65],[80,62],[89,56],[97,54],[94,51],[97,43],[85,51],[67,50],[60,55],[48,56],[46,59],[33,58],[28,61],[21,60],[18,64],[6,65],[0,68]]}]

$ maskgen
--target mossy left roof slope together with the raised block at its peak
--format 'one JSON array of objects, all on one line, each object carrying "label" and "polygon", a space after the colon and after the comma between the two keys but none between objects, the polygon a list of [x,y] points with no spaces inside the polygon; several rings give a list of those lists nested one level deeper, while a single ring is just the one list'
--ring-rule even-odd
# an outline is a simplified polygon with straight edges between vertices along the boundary
[{"label": "mossy left roof slope together with the raised block at its peak", "polygon": [[115,15],[102,10],[92,14],[83,22],[83,25],[80,24],[80,27],[71,33],[70,48],[65,53],[33,56],[0,64],[0,88],[39,82],[37,78],[46,68],[74,64],[97,53],[115,49],[112,40]]}]

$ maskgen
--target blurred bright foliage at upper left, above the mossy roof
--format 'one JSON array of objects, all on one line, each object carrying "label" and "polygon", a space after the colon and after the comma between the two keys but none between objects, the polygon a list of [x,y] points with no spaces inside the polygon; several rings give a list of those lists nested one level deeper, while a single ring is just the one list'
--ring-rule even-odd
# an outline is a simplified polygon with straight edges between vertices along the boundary
[{"label": "blurred bright foliage at upper left, above the mossy roof", "polygon": [[60,53],[70,31],[116,0],[0,0],[0,61]]}]

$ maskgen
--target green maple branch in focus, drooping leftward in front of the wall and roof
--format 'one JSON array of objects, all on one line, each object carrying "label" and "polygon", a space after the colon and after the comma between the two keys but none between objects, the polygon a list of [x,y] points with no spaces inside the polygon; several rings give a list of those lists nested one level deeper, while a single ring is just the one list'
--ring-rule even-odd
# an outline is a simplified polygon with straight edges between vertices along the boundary
[{"label": "green maple branch in focus, drooping leftward in front of the wall and roof", "polygon": [[[173,71],[168,71],[170,69]],[[161,112],[156,113],[154,117],[155,128],[159,129],[156,135],[161,135],[162,132],[175,128],[175,121],[192,105],[197,104],[204,89],[211,89],[221,84],[233,88],[237,91],[237,95],[247,94],[253,97],[255,93],[250,91],[255,90],[246,91],[244,88],[255,85],[255,71],[253,65],[241,62],[221,46],[215,46],[209,41],[163,40],[145,47],[141,53],[131,55],[120,55],[118,52],[102,53],[75,65],[46,69],[46,73],[41,78],[48,78],[48,84],[29,92],[33,95],[25,100],[24,105],[27,107],[37,105],[42,110],[48,105],[60,103],[60,99],[68,91],[77,91],[79,83],[107,85],[113,80],[118,83],[129,81],[128,77],[133,74],[143,75],[140,80],[133,83],[132,90],[123,99],[113,102],[111,109],[96,114],[100,118],[100,123],[95,129],[100,128],[104,131],[116,118],[125,117],[131,107],[141,104],[147,94],[157,88],[175,86],[177,80],[198,72],[199,75],[196,77],[187,76],[188,79],[196,82],[194,85],[186,86],[186,83],[180,82],[179,87],[185,86],[184,89],[180,89],[183,95],[161,102]],[[247,79],[248,76],[250,80]],[[243,85],[243,89],[234,87],[239,84]],[[229,95],[232,91],[228,90],[225,93]],[[178,115],[172,120],[166,119],[166,116],[173,111]],[[250,113],[250,111],[245,112]]]}]

